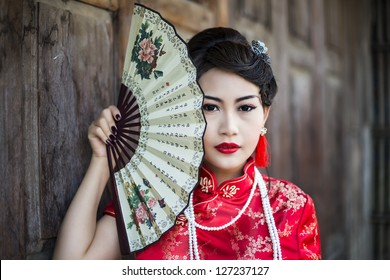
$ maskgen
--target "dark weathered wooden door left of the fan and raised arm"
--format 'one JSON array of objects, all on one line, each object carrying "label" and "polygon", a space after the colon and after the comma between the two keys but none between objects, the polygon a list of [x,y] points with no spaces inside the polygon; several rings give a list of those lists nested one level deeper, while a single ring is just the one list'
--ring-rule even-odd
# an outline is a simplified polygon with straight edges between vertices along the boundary
[{"label": "dark weathered wooden door left of the fan and raised arm", "polygon": [[91,156],[88,126],[117,95],[124,2],[130,11],[131,1],[1,1],[2,259],[51,258]]}]

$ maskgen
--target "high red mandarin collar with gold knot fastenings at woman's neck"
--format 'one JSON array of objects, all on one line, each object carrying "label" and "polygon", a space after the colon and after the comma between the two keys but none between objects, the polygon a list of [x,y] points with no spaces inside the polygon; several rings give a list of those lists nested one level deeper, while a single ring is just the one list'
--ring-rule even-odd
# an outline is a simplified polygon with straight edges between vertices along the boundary
[{"label": "high red mandarin collar with gold knot fastenings at woman's neck", "polygon": [[254,166],[254,160],[252,158],[248,159],[244,166],[244,174],[242,176],[224,181],[218,186],[215,174],[205,165],[202,165],[196,192],[202,197],[214,196],[215,194],[226,199],[238,197],[252,187]]}]

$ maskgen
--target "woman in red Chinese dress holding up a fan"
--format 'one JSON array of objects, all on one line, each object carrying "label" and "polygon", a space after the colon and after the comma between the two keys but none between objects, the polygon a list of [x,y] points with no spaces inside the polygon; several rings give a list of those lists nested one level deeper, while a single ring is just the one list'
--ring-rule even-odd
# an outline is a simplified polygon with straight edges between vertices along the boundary
[{"label": "woman in red Chinese dress holding up a fan", "polygon": [[[206,29],[188,45],[205,94],[200,181],[175,227],[136,259],[320,259],[312,199],[256,168],[267,165],[265,123],[277,91],[265,45],[249,44],[230,28]],[[113,207],[96,223],[114,118],[120,112],[110,106],[89,128],[91,163],[61,226],[54,258],[120,258]]]}]

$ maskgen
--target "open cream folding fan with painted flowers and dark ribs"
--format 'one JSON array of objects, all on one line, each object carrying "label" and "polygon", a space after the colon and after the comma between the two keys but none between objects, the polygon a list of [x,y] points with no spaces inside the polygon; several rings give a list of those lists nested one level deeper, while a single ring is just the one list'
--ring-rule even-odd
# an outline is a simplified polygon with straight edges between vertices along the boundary
[{"label": "open cream folding fan with painted flowers and dark ribs", "polygon": [[158,13],[134,5],[107,145],[122,255],[158,241],[188,205],[203,159],[203,93],[187,45]]}]

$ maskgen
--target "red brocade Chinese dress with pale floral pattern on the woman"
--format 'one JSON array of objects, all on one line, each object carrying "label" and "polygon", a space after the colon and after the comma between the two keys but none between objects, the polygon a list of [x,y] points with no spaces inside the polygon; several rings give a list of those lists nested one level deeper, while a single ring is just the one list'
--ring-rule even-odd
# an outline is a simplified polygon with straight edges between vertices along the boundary
[{"label": "red brocade Chinese dress with pale floral pattern on the woman", "polygon": [[[246,203],[254,180],[254,161],[249,160],[244,175],[216,185],[214,174],[202,166],[200,181],[194,190],[196,221],[205,226],[221,226],[234,218]],[[294,184],[263,175],[269,188],[275,225],[283,259],[321,259],[321,241],[314,203]],[[270,185],[269,185],[270,183]],[[105,213],[114,216],[112,205]],[[272,243],[257,188],[248,209],[230,227],[220,231],[197,228],[200,259],[273,258]],[[189,259],[187,219],[181,214],[175,227],[160,241],[136,253],[136,259]]]}]

